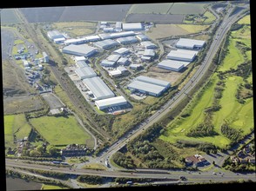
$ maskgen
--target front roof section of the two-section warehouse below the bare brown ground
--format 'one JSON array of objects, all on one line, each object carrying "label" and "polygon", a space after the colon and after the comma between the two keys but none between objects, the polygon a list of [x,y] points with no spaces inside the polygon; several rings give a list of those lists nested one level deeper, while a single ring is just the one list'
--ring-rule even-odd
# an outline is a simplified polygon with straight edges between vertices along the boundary
[{"label": "front roof section of the two-section warehouse below the bare brown ground", "polygon": [[163,91],[165,89],[165,87],[163,86],[158,86],[152,83],[148,83],[148,82],[141,82],[141,81],[133,81],[128,85],[128,88],[131,89],[139,89],[139,90],[143,90],[146,92],[150,92],[153,94],[158,95],[161,91]]}]

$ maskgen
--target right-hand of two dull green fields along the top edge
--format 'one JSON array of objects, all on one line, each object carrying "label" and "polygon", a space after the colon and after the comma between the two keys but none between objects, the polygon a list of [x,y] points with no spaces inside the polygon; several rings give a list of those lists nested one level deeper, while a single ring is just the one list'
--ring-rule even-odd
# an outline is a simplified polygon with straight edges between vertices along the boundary
[{"label": "right-hand of two dull green fields along the top edge", "polygon": [[174,3],[169,14],[200,14],[205,12],[204,6],[209,3]]}]

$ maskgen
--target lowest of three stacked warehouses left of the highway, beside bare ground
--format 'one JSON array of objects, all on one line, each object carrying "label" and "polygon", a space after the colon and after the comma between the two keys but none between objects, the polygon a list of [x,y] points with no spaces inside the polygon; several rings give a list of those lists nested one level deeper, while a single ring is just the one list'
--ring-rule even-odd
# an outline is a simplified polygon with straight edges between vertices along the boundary
[{"label": "lowest of three stacked warehouses left of the highway, beside bare ground", "polygon": [[189,62],[177,61],[177,60],[163,60],[158,63],[158,68],[169,69],[172,71],[179,71],[183,69]]}]

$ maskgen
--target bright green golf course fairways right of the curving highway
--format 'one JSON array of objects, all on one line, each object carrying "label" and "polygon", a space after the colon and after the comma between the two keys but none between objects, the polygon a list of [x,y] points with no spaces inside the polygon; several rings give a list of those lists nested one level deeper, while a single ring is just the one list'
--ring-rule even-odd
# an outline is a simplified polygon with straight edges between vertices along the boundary
[{"label": "bright green golf course fairways right of the curving highway", "polygon": [[[248,38],[248,28],[243,27],[240,30],[232,31],[232,35],[229,36],[229,50],[225,59],[219,66],[218,71],[230,71],[230,69],[237,69],[239,64],[243,63],[245,59],[250,60],[251,54],[247,53],[247,56],[242,54],[241,50],[235,46],[236,42],[245,43],[246,46],[250,45],[250,39]],[[245,34],[243,38],[237,38],[236,34]],[[252,75],[249,76],[247,82],[252,82]],[[244,83],[244,79],[240,76],[235,76],[233,73],[228,73],[225,82],[225,89],[222,92],[222,96],[219,99],[221,109],[212,113],[212,124],[214,131],[218,135],[205,136],[205,137],[188,137],[186,132],[191,128],[203,122],[204,110],[207,107],[212,106],[214,88],[219,81],[217,74],[214,74],[211,78],[210,85],[206,85],[202,91],[202,95],[199,97],[195,95],[192,102],[182,111],[175,120],[167,125],[165,135],[161,135],[159,138],[166,141],[175,143],[177,140],[187,140],[194,142],[211,142],[219,148],[226,148],[231,142],[226,136],[220,132],[220,127],[223,122],[227,121],[232,128],[242,129],[242,135],[247,135],[251,132],[253,126],[253,98],[247,98],[244,104],[238,102],[236,94],[239,88],[239,84]],[[199,93],[198,93],[199,95]],[[189,114],[185,116],[184,114]],[[182,117],[183,116],[183,117]]]}]

